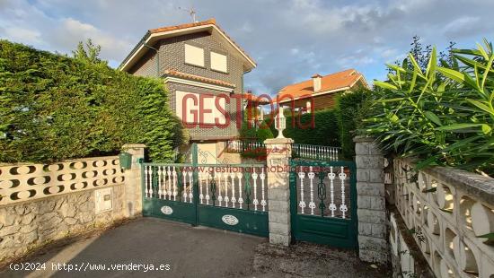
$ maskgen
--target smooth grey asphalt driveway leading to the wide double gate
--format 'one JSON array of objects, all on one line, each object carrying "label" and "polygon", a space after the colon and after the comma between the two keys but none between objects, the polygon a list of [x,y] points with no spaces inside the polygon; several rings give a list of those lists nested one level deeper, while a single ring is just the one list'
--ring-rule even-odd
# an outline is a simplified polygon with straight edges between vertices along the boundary
[{"label": "smooth grey asphalt driveway leading to the wide double gate", "polygon": [[[88,239],[35,256],[29,262],[46,263],[45,271],[4,271],[0,277],[236,277],[249,276],[256,247],[267,239],[192,228],[178,222],[143,218]],[[52,271],[54,264],[170,265],[170,270]],[[63,265],[62,265],[63,267]],[[68,265],[66,265],[67,269]],[[88,266],[89,267],[89,266]]]}]

